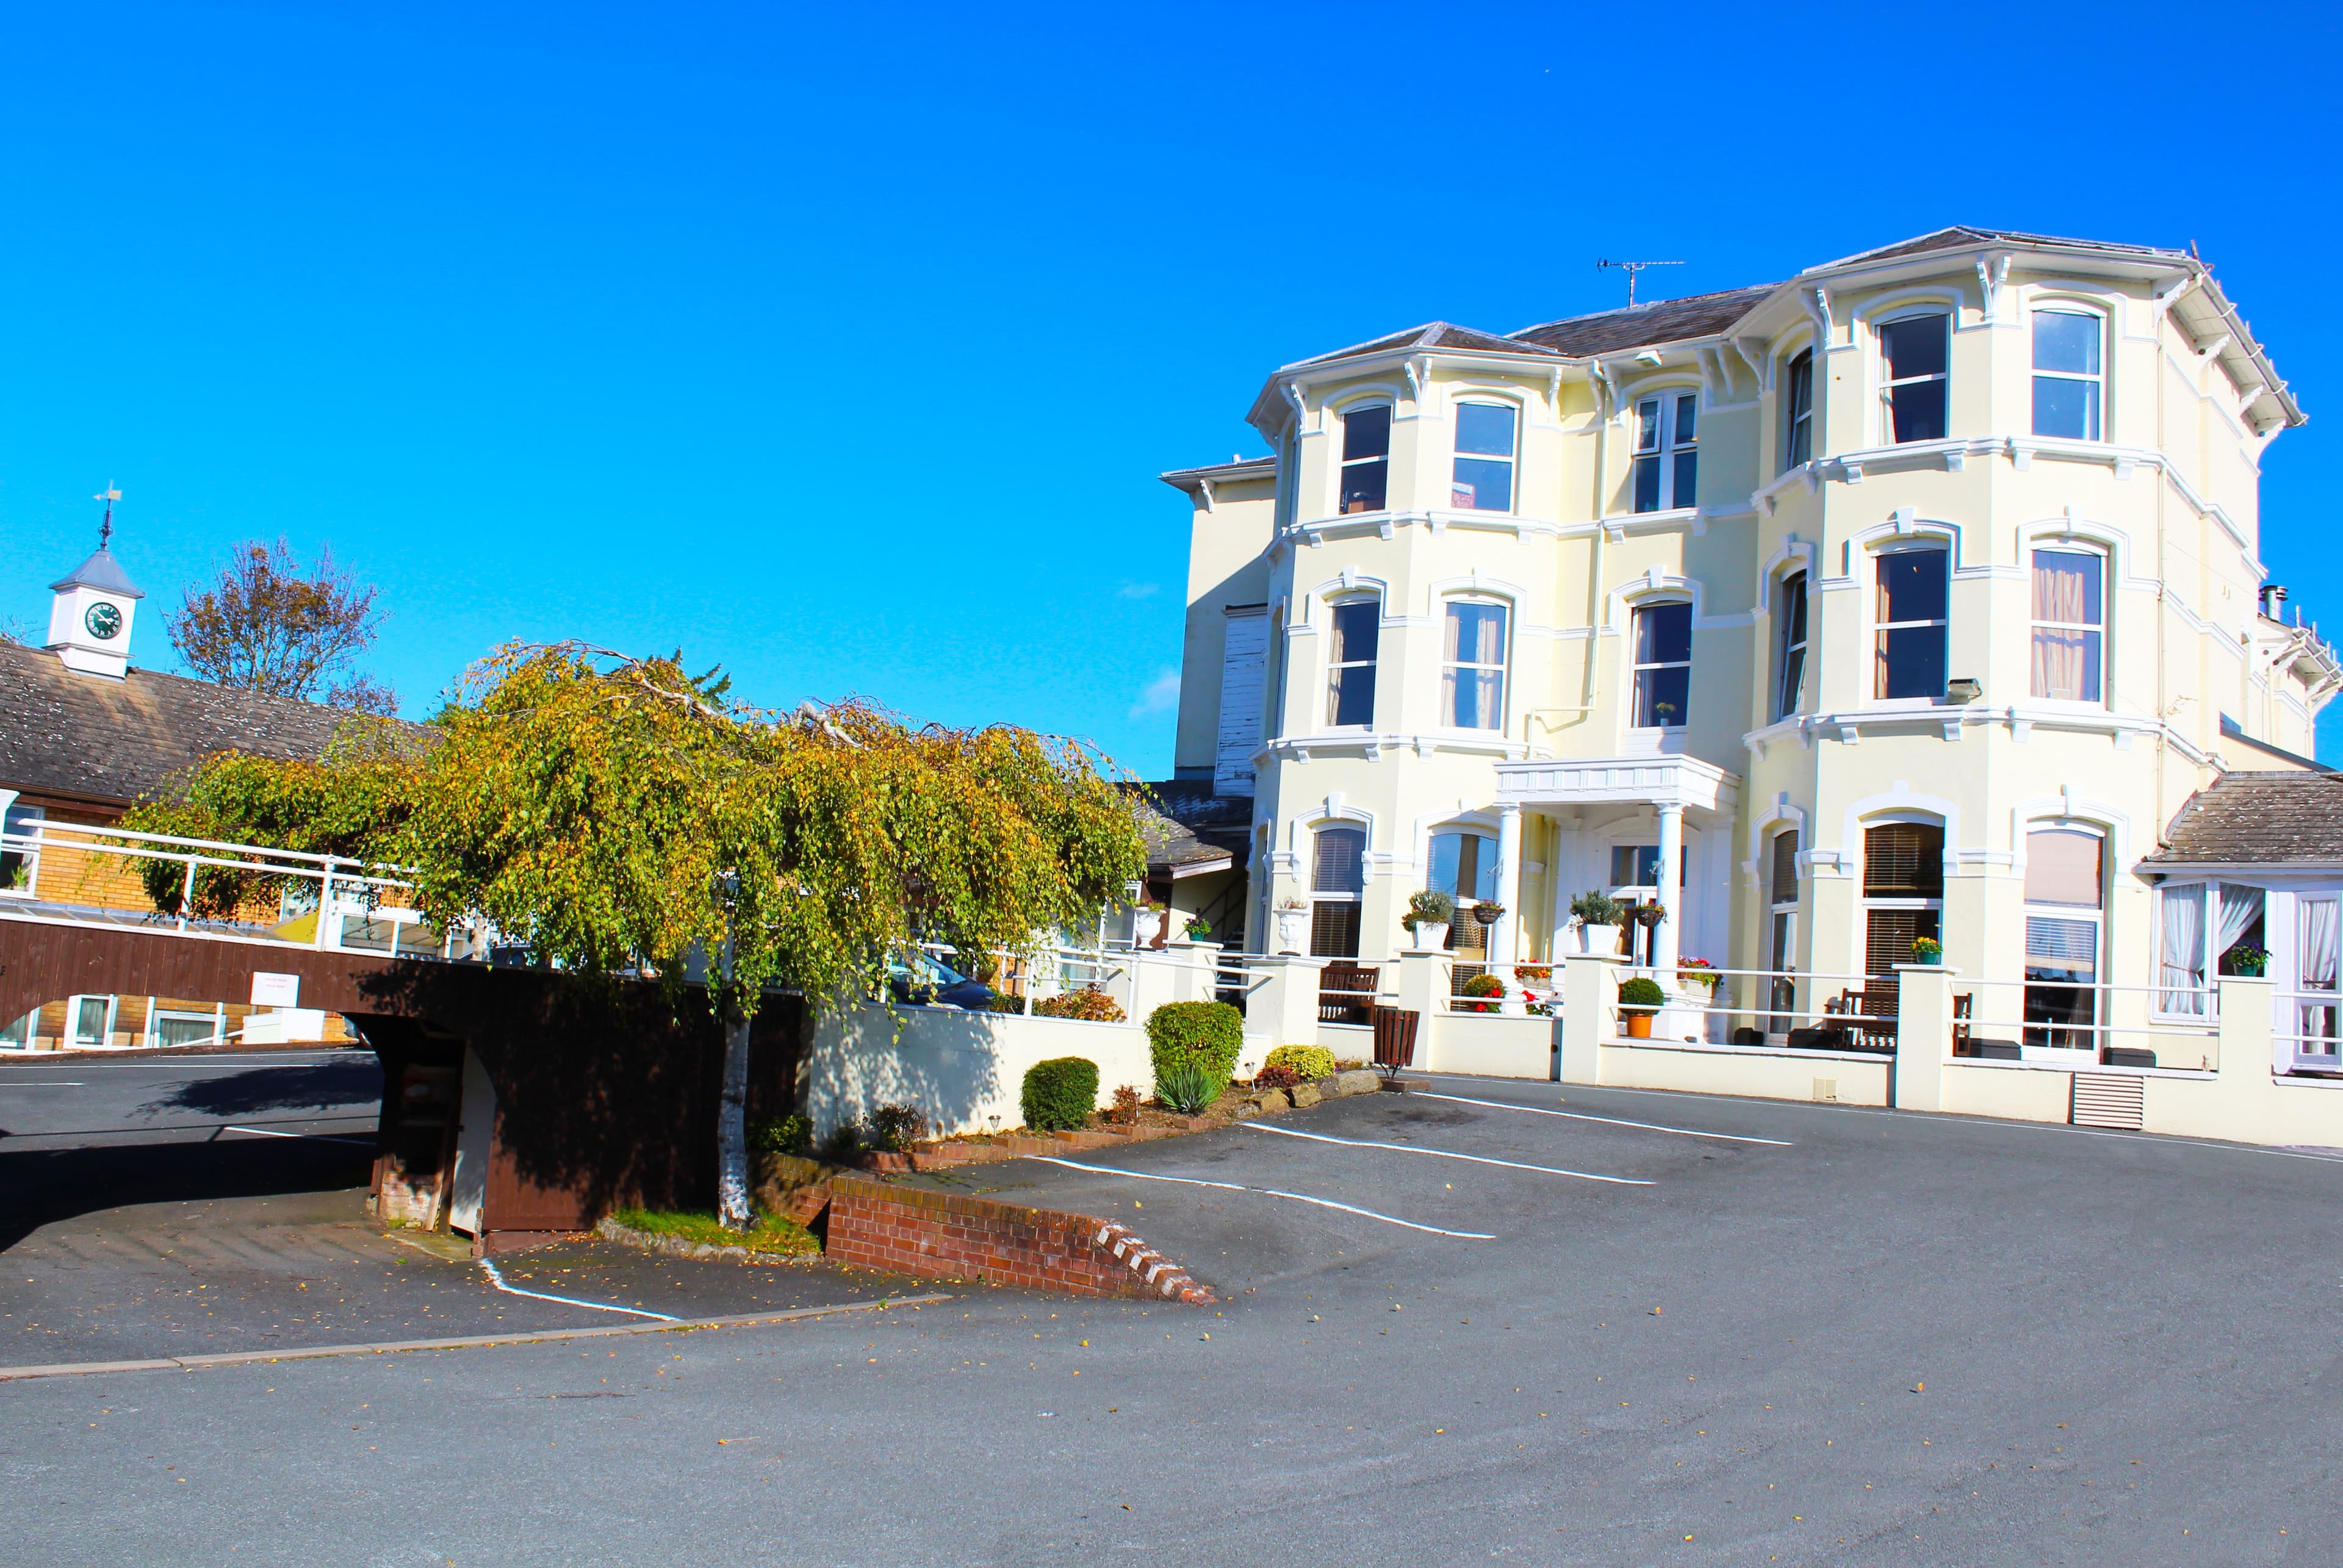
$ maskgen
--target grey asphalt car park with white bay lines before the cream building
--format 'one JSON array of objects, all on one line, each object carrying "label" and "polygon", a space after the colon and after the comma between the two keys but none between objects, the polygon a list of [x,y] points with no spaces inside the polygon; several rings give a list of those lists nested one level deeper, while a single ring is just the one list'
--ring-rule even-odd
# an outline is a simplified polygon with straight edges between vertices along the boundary
[{"label": "grey asphalt car park with white bay lines before the cream building", "polygon": [[2334,1153],[1434,1090],[930,1179],[1115,1216],[1216,1308],[963,1289],[0,1385],[0,1528],[28,1561],[2343,1556]]}]

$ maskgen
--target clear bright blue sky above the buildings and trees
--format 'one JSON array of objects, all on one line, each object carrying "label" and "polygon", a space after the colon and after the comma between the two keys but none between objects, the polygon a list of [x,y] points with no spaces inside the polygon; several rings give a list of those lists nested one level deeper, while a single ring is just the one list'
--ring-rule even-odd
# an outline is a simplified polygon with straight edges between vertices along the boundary
[{"label": "clear bright blue sky above the buildings and trees", "polygon": [[[1162,776],[1186,502],[1282,361],[1985,223],[2195,241],[2313,413],[2263,558],[2343,626],[2334,14],[9,5],[0,619],[330,544],[412,715],[684,647]],[[1809,117],[1809,103],[1828,115]],[[2343,724],[2343,703],[2336,705]],[[2322,752],[2343,727],[2322,727]]]}]

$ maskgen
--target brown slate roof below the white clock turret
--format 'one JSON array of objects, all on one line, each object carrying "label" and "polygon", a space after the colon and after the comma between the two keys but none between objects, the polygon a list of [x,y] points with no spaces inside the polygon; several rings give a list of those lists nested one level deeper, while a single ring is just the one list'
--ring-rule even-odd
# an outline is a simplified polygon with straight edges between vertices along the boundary
[{"label": "brown slate roof below the white clock turret", "polygon": [[5,790],[127,806],[213,752],[316,757],[347,717],[185,675],[77,675],[52,652],[0,645]]}]

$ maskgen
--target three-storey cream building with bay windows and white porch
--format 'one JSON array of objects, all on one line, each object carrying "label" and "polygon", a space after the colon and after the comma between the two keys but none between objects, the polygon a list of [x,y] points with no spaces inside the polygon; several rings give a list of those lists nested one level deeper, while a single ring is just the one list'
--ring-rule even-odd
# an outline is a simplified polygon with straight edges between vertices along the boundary
[{"label": "three-storey cream building with bay windows and white porch", "polygon": [[1549,961],[1600,888],[1666,905],[1631,938],[1664,980],[1940,935],[2045,1024],[2104,987],[2186,1008],[2254,940],[2287,982],[2277,895],[2231,930],[2198,888],[2191,956],[2137,870],[2226,769],[2308,766],[2343,682],[2256,555],[2303,413],[2188,253],[1952,227],[1394,333],[1282,366],[1249,422],[1275,457],[1164,473],[1176,766],[1251,797],[1249,949],[1305,900],[1317,952],[1373,961],[1441,886],[1504,905],[1490,961]]}]

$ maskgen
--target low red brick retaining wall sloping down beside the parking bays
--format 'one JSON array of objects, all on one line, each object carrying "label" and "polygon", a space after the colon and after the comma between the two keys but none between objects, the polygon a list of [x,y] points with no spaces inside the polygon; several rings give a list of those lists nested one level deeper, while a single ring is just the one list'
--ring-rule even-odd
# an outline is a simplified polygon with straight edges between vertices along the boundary
[{"label": "low red brick retaining wall sloping down beside the parking bays", "polygon": [[862,1177],[829,1184],[822,1249],[841,1263],[925,1280],[984,1280],[1071,1296],[1214,1301],[1209,1289],[1113,1221]]}]

